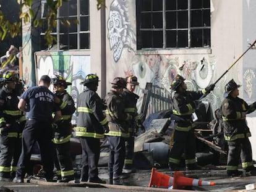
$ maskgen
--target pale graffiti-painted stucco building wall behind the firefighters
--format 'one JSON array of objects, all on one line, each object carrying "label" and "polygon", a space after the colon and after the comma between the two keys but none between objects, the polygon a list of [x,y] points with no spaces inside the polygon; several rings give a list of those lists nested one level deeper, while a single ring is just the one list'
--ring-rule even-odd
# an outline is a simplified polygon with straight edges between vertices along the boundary
[{"label": "pale graffiti-painted stucco building wall behind the firefighters", "polygon": [[[65,73],[66,77],[72,82],[76,79],[72,79],[76,73],[75,69],[79,69],[77,70],[81,72],[79,74],[83,73],[81,76],[77,75],[81,77],[80,80],[82,76],[85,77],[85,73],[97,73],[101,79],[98,90],[100,96],[105,96],[110,90],[109,82],[114,77],[127,77],[132,74],[139,79],[140,85],[135,92],[140,96],[143,95],[147,82],[169,90],[169,85],[177,73],[186,78],[190,90],[201,90],[210,83],[215,83],[237,61],[248,48],[249,43],[256,39],[255,10],[256,2],[252,0],[212,0],[211,48],[137,51],[135,1],[106,0],[106,9],[100,11],[96,10],[96,1],[90,1],[91,49],[81,54],[64,51],[62,53],[52,52],[45,56],[38,55],[36,61],[40,64],[48,59],[47,61],[53,67],[44,65],[43,68],[53,69],[54,72],[61,66],[54,63],[63,60],[66,66],[64,68],[70,69],[69,74]],[[121,25],[109,25],[117,18]],[[30,50],[28,48],[25,54],[31,54]],[[54,54],[61,56],[57,57]],[[56,58],[62,58],[62,60]],[[255,50],[249,50],[216,83],[215,90],[205,98],[211,102],[213,110],[220,107],[223,101],[224,85],[232,78],[243,85],[240,89],[241,98],[249,104],[255,101],[255,61]],[[23,64],[31,66],[31,57],[28,57],[28,62],[24,59]],[[26,68],[23,68],[23,73],[28,73],[29,81],[31,71],[25,70]],[[139,109],[141,104],[142,97],[138,102]],[[249,115],[248,125],[252,131],[252,148],[256,155],[254,121],[255,113]]]}]

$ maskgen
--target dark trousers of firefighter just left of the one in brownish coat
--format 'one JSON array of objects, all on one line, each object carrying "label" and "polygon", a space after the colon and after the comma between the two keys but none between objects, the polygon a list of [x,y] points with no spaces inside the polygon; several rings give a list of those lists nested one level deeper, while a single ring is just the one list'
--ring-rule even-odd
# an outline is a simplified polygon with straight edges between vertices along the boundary
[{"label": "dark trousers of firefighter just left of the one in brownish coat", "polygon": [[98,162],[100,159],[100,139],[80,137],[82,145],[82,170],[80,181],[87,182],[98,178]]}]

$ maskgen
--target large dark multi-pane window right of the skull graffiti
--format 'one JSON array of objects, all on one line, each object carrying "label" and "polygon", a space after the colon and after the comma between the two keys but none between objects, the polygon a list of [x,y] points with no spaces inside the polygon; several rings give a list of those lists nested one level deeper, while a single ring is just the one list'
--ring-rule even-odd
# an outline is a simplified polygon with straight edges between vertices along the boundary
[{"label": "large dark multi-pane window right of the skull graffiti", "polygon": [[[210,48],[210,0],[197,0],[196,2],[200,2],[199,7],[198,4],[195,7],[195,3],[192,1],[195,2],[195,0],[137,0],[137,50]],[[166,4],[169,4],[169,6],[166,6]],[[170,4],[175,4],[176,7],[170,9]],[[176,18],[179,18],[179,15],[182,17],[182,13],[183,16],[187,14],[187,17],[185,17],[187,18],[186,27],[182,25],[184,20],[179,22],[179,19],[175,19],[176,23],[174,23],[170,22],[171,18],[167,16],[168,14],[175,14]],[[148,15],[148,17],[143,15]],[[155,15],[159,15],[158,20],[154,18]],[[196,15],[197,18],[194,19]],[[147,27],[145,27],[146,25]],[[172,27],[168,27],[168,25]],[[149,35],[145,35],[147,33]],[[158,35],[154,35],[154,33],[158,33]],[[171,35],[171,33],[174,35]],[[182,36],[182,33],[186,33],[186,35]],[[170,44],[171,37],[174,40],[172,44]],[[186,39],[186,43],[182,42],[184,39]]]}]

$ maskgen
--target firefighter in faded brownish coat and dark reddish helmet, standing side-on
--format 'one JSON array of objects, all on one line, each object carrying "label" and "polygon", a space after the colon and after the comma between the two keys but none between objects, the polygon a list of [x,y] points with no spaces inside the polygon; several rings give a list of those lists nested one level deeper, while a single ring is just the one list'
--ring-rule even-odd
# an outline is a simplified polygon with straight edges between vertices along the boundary
[{"label": "firefighter in faded brownish coat and dark reddish helmet, standing side-on", "polygon": [[105,98],[106,117],[109,122],[109,133],[105,135],[108,135],[109,142],[109,180],[119,180],[129,177],[122,173],[122,167],[126,154],[125,141],[129,138],[127,123],[132,116],[125,112],[124,99],[121,96],[126,87],[126,81],[122,77],[116,77],[111,84],[112,88]]}]

